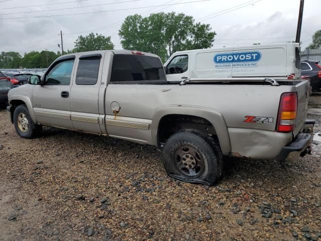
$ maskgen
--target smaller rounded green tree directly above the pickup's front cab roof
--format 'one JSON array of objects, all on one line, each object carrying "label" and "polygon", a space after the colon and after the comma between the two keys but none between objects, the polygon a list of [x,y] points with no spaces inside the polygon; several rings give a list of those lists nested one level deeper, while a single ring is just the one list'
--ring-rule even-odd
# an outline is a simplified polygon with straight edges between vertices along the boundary
[{"label": "smaller rounded green tree directly above the pickup's front cab roof", "polygon": [[72,52],[85,52],[94,50],[108,50],[113,49],[114,44],[110,37],[105,37],[101,34],[90,33],[87,36],[80,35],[75,41],[75,48]]}]

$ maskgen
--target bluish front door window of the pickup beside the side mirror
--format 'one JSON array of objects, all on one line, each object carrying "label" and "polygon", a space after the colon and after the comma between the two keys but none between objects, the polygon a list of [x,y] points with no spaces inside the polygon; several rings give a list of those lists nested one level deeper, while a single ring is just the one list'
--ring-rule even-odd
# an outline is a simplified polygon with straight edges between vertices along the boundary
[{"label": "bluish front door window of the pickup beside the side mirror", "polygon": [[74,59],[65,60],[56,64],[46,75],[48,85],[69,85]]}]

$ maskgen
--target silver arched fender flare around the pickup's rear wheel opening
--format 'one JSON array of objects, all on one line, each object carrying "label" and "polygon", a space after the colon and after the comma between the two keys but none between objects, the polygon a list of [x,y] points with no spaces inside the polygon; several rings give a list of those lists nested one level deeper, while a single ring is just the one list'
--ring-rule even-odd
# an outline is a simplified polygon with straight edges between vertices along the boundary
[{"label": "silver arched fender flare around the pickup's rear wheel opening", "polygon": [[221,150],[223,155],[227,156],[231,152],[231,142],[228,129],[225,123],[223,115],[214,110],[198,106],[188,106],[188,105],[171,105],[164,106],[156,109],[151,122],[151,137],[152,142],[157,146],[157,132],[158,125],[161,119],[169,114],[187,114],[202,117],[207,119],[213,127],[215,128],[217,137],[220,142]]}]

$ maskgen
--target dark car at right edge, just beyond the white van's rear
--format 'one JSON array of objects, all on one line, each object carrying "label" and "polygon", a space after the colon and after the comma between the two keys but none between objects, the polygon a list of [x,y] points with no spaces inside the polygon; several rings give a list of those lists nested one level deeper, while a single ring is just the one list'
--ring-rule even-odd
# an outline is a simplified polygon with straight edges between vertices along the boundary
[{"label": "dark car at right edge, just beyond the white van's rear", "polygon": [[301,74],[309,76],[312,91],[319,91],[321,88],[321,65],[318,61],[301,60]]}]

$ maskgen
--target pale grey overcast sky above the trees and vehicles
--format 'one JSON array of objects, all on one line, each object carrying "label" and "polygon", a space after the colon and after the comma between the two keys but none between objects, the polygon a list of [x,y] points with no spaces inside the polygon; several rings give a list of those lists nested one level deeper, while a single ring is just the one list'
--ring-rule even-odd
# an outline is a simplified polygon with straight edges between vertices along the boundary
[{"label": "pale grey overcast sky above the trees and vehicles", "polygon": [[[191,15],[198,22],[210,24],[212,30],[217,33],[214,47],[293,41],[300,2],[299,0],[209,0],[197,3],[195,1],[200,0],[75,1],[0,0],[0,52],[17,51],[22,55],[25,52],[43,49],[57,52],[60,30],[63,31],[64,49],[72,49],[77,36],[90,32],[111,36],[115,48],[121,49],[118,29],[126,16],[133,14],[147,16],[151,13],[172,11]],[[54,3],[61,4],[17,8]],[[182,4],[165,6],[176,3]],[[92,5],[96,6],[86,7]],[[83,8],[66,9],[75,7]],[[305,0],[301,32],[303,48],[311,42],[313,33],[321,29],[320,9],[320,0]],[[44,10],[55,11],[35,12]],[[98,11],[100,13],[79,14]],[[38,18],[50,15],[65,16]]]}]

